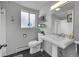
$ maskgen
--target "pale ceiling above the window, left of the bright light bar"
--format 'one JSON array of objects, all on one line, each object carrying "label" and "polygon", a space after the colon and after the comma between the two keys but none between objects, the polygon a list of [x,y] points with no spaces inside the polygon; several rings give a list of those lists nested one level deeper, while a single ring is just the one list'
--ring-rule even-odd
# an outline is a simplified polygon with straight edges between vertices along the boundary
[{"label": "pale ceiling above the window, left of the bright light bar", "polygon": [[22,5],[24,7],[29,7],[36,10],[41,10],[41,8],[48,6],[50,4],[56,3],[56,1],[13,1],[14,3],[17,3],[19,5]]}]

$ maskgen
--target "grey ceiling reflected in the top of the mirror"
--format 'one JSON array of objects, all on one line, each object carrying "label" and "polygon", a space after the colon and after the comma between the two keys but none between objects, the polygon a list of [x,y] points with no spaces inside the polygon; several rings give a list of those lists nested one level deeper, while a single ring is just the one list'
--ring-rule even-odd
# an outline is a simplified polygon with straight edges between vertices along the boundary
[{"label": "grey ceiling reflected in the top of the mirror", "polygon": [[54,11],[53,15],[58,17],[59,19],[66,19],[67,15],[70,14],[68,13],[69,10],[72,10],[74,8],[74,2],[70,2],[64,6],[61,6],[61,10],[60,11]]}]

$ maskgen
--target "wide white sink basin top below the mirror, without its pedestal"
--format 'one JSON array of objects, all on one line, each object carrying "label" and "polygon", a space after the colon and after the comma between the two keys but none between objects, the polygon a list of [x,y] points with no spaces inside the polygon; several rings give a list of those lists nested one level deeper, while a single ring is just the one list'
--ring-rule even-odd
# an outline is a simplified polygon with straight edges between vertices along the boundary
[{"label": "wide white sink basin top below the mirror, without its pedestal", "polygon": [[56,35],[41,35],[38,34],[38,37],[42,40],[48,41],[54,45],[57,45],[58,47],[65,49],[68,47],[70,44],[74,42],[74,39],[69,39],[69,38],[64,38],[64,37],[59,37]]}]

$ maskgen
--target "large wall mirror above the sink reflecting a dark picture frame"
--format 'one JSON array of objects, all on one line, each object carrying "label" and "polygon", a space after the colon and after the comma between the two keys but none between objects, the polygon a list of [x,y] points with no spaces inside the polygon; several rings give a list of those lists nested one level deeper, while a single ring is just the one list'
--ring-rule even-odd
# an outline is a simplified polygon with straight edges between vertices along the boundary
[{"label": "large wall mirror above the sink reflecting a dark picture frame", "polygon": [[55,34],[73,38],[73,4],[69,2],[51,11]]}]

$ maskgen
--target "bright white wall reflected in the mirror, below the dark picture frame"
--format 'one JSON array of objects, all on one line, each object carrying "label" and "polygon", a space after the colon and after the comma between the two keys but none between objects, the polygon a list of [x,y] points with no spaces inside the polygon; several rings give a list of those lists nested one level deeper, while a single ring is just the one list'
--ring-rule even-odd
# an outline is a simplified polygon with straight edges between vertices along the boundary
[{"label": "bright white wall reflected in the mirror, below the dark picture frame", "polygon": [[67,19],[65,20],[59,20],[58,22],[58,28],[57,28],[57,33],[61,34],[70,34],[73,33],[73,23],[72,22],[67,22]]}]

